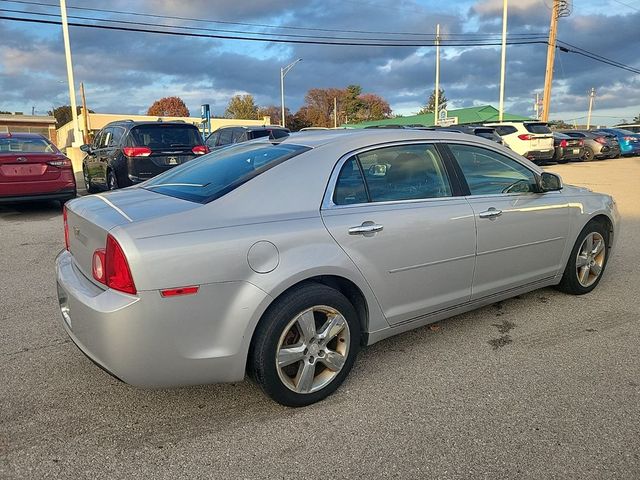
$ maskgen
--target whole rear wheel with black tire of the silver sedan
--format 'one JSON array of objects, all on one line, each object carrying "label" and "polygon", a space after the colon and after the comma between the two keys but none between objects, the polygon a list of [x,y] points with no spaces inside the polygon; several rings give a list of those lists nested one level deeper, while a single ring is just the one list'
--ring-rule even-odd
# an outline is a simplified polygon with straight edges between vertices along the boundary
[{"label": "whole rear wheel with black tire of the silver sedan", "polygon": [[360,323],[342,293],[308,283],[269,307],[254,335],[250,373],[276,402],[302,407],[331,395],[349,374]]}]

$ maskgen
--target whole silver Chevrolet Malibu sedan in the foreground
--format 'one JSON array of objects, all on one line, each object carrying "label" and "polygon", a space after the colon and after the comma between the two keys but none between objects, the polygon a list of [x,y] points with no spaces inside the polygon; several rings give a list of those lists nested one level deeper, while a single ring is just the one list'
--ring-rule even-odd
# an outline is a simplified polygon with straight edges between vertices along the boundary
[{"label": "whole silver Chevrolet Malibu sedan in the foreground", "polygon": [[235,382],[303,406],[358,350],[537,288],[600,282],[614,200],[495,142],[305,132],[67,203],[63,326],[139,386]]}]

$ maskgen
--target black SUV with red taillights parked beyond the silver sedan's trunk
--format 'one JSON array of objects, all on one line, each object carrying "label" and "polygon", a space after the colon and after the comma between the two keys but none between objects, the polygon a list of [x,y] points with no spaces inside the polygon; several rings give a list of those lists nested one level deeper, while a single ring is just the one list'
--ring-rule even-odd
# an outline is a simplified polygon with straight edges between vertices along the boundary
[{"label": "black SUV with red taillights parked beyond the silver sedan's trunk", "polygon": [[111,122],[80,149],[89,193],[148,180],[209,152],[195,125],[184,122]]}]

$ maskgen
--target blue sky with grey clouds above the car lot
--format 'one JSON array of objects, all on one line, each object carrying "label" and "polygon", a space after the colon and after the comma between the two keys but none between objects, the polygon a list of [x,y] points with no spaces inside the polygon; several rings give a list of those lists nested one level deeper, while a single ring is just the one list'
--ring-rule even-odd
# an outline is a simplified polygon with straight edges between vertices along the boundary
[{"label": "blue sky with grey clouds above the car lot", "polygon": [[[551,1],[511,0],[512,38],[521,33],[546,34]],[[55,0],[34,2],[57,4]],[[465,34],[455,38],[469,39],[474,34],[499,34],[502,21],[502,0],[114,0],[106,4],[68,0],[67,4],[85,8],[69,8],[70,16],[85,17],[70,18],[71,22],[92,23],[86,18],[93,17],[138,22],[128,24],[133,28],[166,24],[181,27],[181,32],[236,36],[242,34],[221,30],[250,32],[249,36],[278,33],[424,42],[428,38],[416,34],[434,33],[437,23],[448,38]],[[180,18],[105,13],[87,7]],[[55,7],[31,2],[0,0],[0,9],[0,16],[49,21],[58,19],[35,13],[59,14]],[[558,38],[640,68],[638,25],[638,0],[576,0],[571,16],[560,19]],[[349,33],[355,31],[400,35]],[[198,115],[201,103],[211,104],[214,114],[220,115],[229,98],[239,93],[253,94],[260,105],[278,104],[280,67],[296,58],[303,61],[286,78],[287,105],[293,110],[302,105],[309,88],[357,83],[386,98],[395,113],[406,115],[420,108],[434,84],[432,47],[276,44],[83,27],[71,27],[70,36],[76,82],[84,82],[89,108],[104,113],[144,113],[155,99],[167,95],[182,97],[192,115]],[[0,19],[0,38],[0,110],[30,113],[35,107],[36,113],[45,113],[52,106],[69,103],[60,26]],[[542,91],[544,83],[545,59],[543,44],[508,47],[508,111],[533,114],[535,93]],[[441,85],[449,108],[497,105],[499,67],[499,47],[443,47]],[[598,123],[613,124],[640,114],[640,75],[558,51],[551,117],[585,123],[591,87],[597,90],[594,115]]]}]

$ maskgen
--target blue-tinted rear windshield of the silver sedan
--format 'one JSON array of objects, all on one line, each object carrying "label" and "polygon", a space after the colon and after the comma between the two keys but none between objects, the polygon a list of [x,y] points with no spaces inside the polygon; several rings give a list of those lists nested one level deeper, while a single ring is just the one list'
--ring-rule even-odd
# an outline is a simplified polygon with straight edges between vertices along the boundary
[{"label": "blue-tinted rear windshield of the silver sedan", "polygon": [[183,200],[208,203],[307,150],[310,148],[301,145],[239,143],[168,170],[142,187]]}]

